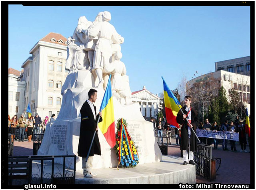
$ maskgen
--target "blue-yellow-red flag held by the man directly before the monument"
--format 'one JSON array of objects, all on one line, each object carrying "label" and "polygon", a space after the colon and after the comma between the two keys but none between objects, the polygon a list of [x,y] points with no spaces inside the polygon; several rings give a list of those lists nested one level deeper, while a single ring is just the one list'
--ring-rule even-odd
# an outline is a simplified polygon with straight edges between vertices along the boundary
[{"label": "blue-yellow-red flag held by the man directly before the monument", "polygon": [[113,148],[116,145],[116,133],[115,133],[115,119],[114,119],[114,106],[112,97],[112,88],[110,82],[111,75],[108,79],[108,85],[106,87],[104,97],[100,106],[102,112],[103,121],[98,124],[100,131],[106,138],[108,144]]}]

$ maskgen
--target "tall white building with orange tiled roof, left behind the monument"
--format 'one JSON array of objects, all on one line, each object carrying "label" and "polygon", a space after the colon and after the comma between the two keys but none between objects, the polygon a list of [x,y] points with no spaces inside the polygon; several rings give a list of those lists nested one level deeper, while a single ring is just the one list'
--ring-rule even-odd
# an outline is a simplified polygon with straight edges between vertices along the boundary
[{"label": "tall white building with orange tiled roof, left behind the monument", "polygon": [[24,73],[20,76],[25,82],[25,109],[30,103],[32,115],[36,113],[44,119],[60,111],[61,87],[68,75],[65,71],[67,39],[50,32],[30,50],[22,64]]}]

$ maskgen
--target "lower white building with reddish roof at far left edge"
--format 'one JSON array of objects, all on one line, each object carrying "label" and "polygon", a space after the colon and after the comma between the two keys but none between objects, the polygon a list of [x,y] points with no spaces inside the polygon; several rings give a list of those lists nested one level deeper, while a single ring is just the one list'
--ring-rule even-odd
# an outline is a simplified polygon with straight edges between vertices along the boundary
[{"label": "lower white building with reddish roof at far left edge", "polygon": [[25,82],[17,81],[21,73],[22,71],[16,69],[8,69],[8,114],[10,118],[14,115],[20,117],[24,111]]}]

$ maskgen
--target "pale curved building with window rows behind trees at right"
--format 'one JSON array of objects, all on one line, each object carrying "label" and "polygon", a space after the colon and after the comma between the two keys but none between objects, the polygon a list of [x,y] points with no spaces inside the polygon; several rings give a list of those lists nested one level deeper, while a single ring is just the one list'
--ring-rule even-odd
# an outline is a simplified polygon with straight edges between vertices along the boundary
[{"label": "pale curved building with window rows behind trees at right", "polygon": [[219,71],[205,74],[203,79],[202,79],[202,76],[199,76],[188,81],[186,84],[187,90],[192,88],[194,83],[197,83],[199,80],[206,80],[208,77],[211,77],[211,76],[213,76],[214,79],[217,79],[218,81],[217,84],[213,84],[213,85],[220,85],[224,87],[224,89],[226,89],[226,97],[229,102],[230,102],[229,89],[235,89],[238,93],[240,93],[240,96],[242,97],[244,104],[246,105],[246,107],[248,107],[248,114],[250,115],[251,95],[250,95],[250,76],[248,75],[240,75],[238,73],[219,70]]}]

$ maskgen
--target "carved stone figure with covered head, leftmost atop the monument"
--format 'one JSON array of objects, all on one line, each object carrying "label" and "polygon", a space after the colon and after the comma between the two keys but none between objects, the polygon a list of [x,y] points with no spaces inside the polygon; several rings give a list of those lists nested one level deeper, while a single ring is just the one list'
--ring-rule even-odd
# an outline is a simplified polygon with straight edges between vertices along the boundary
[{"label": "carved stone figure with covered head, leftmost atop the monument", "polygon": [[78,25],[74,30],[73,36],[68,38],[66,70],[75,72],[76,70],[89,69],[87,52],[84,51],[88,37],[78,31],[86,30],[91,24],[92,22],[88,21],[85,16],[81,16],[78,19]]}]

